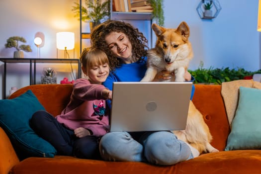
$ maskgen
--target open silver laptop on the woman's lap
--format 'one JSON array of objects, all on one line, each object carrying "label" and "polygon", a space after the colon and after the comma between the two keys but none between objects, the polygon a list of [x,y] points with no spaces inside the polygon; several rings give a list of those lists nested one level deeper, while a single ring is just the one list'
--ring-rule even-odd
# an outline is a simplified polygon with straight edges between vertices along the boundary
[{"label": "open silver laptop on the woman's lap", "polygon": [[191,82],[114,82],[110,131],[184,130]]}]

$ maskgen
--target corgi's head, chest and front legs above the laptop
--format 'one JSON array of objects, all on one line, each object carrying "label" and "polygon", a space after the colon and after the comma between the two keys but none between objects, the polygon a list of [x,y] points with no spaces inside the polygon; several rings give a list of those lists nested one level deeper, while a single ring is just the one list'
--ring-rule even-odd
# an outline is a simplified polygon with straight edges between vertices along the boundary
[{"label": "corgi's head, chest and front legs above the laptop", "polygon": [[156,75],[167,70],[174,72],[171,81],[184,82],[184,73],[193,57],[191,43],[188,40],[189,27],[181,22],[176,29],[164,28],[152,24],[157,41],[155,48],[148,50],[148,69],[141,82],[151,82]]}]

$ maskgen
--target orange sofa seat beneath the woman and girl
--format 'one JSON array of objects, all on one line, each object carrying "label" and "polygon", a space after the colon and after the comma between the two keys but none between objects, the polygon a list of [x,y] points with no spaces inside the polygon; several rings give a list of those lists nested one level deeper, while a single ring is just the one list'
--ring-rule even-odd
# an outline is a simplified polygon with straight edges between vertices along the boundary
[{"label": "orange sofa seat beneath the woman and girl", "polygon": [[203,154],[173,166],[56,156],[25,159],[11,170],[11,174],[260,174],[260,164],[260,150]]}]

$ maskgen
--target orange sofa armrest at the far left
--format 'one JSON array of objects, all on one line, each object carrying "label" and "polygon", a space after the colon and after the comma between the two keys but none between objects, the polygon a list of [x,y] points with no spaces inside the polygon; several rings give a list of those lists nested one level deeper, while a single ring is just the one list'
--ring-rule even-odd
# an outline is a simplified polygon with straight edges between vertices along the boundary
[{"label": "orange sofa armrest at the far left", "polygon": [[8,174],[10,169],[19,163],[19,159],[12,147],[12,144],[0,127],[0,174]]}]

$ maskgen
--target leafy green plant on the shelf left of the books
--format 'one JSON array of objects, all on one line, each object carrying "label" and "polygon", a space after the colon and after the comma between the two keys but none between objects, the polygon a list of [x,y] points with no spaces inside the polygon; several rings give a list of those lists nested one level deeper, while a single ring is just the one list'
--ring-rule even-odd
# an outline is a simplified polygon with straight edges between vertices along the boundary
[{"label": "leafy green plant on the shelf left of the books", "polygon": [[[74,4],[72,11],[79,17],[80,4],[78,2]],[[85,0],[85,5],[86,7],[82,5],[82,21],[89,22],[90,30],[110,16],[110,0]]]}]

